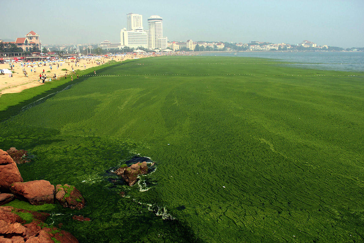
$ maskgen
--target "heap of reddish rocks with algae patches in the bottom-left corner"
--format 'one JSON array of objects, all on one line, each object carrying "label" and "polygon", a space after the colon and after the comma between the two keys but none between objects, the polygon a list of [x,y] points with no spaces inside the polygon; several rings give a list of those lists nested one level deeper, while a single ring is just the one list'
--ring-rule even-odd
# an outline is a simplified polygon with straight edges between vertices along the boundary
[{"label": "heap of reddish rocks with algae patches in the bottom-left corner", "polygon": [[[19,212],[31,213],[32,222],[25,224],[25,220],[17,215]],[[78,243],[70,232],[45,224],[44,220],[48,216],[48,213],[0,207],[0,242]]]}]

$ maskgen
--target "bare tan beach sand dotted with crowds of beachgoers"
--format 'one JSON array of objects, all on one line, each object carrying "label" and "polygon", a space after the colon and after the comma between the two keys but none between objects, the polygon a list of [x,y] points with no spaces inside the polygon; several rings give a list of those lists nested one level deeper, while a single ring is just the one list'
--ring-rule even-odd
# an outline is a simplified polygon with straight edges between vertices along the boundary
[{"label": "bare tan beach sand dotted with crowds of beachgoers", "polygon": [[[75,67],[74,62],[70,62],[70,60],[66,60],[66,63],[63,63],[62,66],[59,66],[58,70],[57,70],[57,64],[60,64],[62,62],[52,63],[52,70],[49,66],[50,63],[48,63],[48,62],[46,63],[47,66],[40,66],[40,67],[38,67],[38,65],[33,65],[33,67],[31,67],[30,65],[29,66],[26,65],[25,67],[22,67],[22,66],[19,66],[19,63],[13,63],[14,64],[13,71],[15,71],[13,73],[13,77],[10,78],[9,74],[0,75],[0,96],[2,94],[7,94],[7,93],[19,93],[22,90],[29,89],[31,87],[35,87],[35,86],[39,86],[39,85],[43,85],[43,83],[39,79],[39,74],[42,74],[43,69],[44,69],[44,73],[47,75],[47,79],[51,78],[52,82],[53,82],[54,74],[56,74],[57,78],[63,78],[64,74],[66,74],[66,71],[61,71],[61,70],[63,68],[66,68],[68,70],[67,78],[69,78],[71,81],[70,74],[72,73],[72,66],[74,67],[74,70],[77,73],[78,69],[85,70],[87,68],[99,66],[96,64],[96,61],[95,61],[96,59],[102,60],[103,62],[107,63],[108,61],[112,60],[111,58],[114,58],[114,60],[118,62],[121,60],[131,59],[132,57],[143,58],[143,57],[147,57],[147,56],[143,56],[143,55],[122,56],[122,55],[119,55],[119,56],[112,56],[112,57],[105,57],[105,58],[95,57],[94,59],[90,59],[90,60],[81,59],[79,62],[77,62],[77,67]],[[86,68],[84,67],[84,65],[86,65]],[[6,68],[11,70],[8,63],[0,64],[0,69],[6,69]],[[35,68],[36,72],[34,72],[34,68]],[[27,71],[28,77],[24,76],[23,69],[25,69]],[[32,72],[31,72],[31,69],[33,70]],[[51,71],[51,72],[47,72],[47,71]],[[76,78],[75,75],[73,78]]]}]

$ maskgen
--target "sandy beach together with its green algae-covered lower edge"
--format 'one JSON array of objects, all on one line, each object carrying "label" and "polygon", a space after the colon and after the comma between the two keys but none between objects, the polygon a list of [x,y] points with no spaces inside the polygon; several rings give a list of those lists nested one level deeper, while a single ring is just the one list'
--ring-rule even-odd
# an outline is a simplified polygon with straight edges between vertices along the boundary
[{"label": "sandy beach together with its green algae-covered lower edge", "polygon": [[[94,70],[99,70],[104,67],[108,67],[108,62],[114,60],[115,62],[123,61],[131,61],[134,59],[140,58],[148,58],[148,57],[158,57],[158,56],[167,56],[171,55],[169,53],[144,53],[144,54],[126,54],[126,55],[112,55],[112,56],[97,56],[93,59],[82,59],[78,62],[80,64],[79,67],[75,68],[75,73],[72,73],[72,66],[74,66],[74,62],[63,62],[62,66],[59,66],[58,70],[56,68],[57,65],[52,64],[52,72],[50,71],[49,66],[35,66],[37,72],[30,72],[31,69],[34,68],[25,67],[25,70],[28,72],[29,77],[25,77],[24,74],[19,73],[23,72],[22,69],[24,67],[20,66],[20,63],[14,63],[13,77],[8,77],[8,74],[0,75],[0,112],[9,110],[10,107],[13,107],[15,110],[21,110],[22,107],[27,105],[27,101],[30,103],[37,101],[37,99],[41,99],[41,95],[51,94],[50,91],[57,89],[58,87],[62,87],[67,83],[72,82],[70,76],[74,76],[73,82],[76,81],[76,77],[79,74],[79,77],[82,79],[82,76],[85,74],[93,74]],[[191,55],[191,52],[183,52],[181,54],[173,55]],[[193,53],[192,53],[193,55]],[[101,62],[102,64],[96,64],[96,60]],[[101,60],[101,61],[100,61]],[[57,62],[55,62],[57,63]],[[60,62],[59,62],[60,63]],[[46,63],[49,64],[49,63]],[[104,65],[106,64],[106,65]],[[86,65],[86,67],[84,67]],[[9,68],[9,63],[0,64],[0,69]],[[47,74],[47,79],[51,78],[51,81],[46,81],[42,83],[39,79],[39,74],[42,74],[43,68],[45,73]],[[62,71],[63,68],[67,69],[67,79],[64,78],[66,71]],[[56,71],[54,71],[54,69]],[[16,73],[16,71],[18,71]],[[31,73],[31,75],[29,75]],[[53,79],[52,76],[56,74],[57,79]],[[37,87],[37,88],[36,88]],[[35,88],[35,89],[32,89]],[[43,97],[44,98],[44,97]],[[15,111],[16,112],[16,111]],[[13,111],[5,112],[8,115],[11,115]],[[5,114],[4,113],[4,114]],[[5,115],[6,116],[6,115]]]}]

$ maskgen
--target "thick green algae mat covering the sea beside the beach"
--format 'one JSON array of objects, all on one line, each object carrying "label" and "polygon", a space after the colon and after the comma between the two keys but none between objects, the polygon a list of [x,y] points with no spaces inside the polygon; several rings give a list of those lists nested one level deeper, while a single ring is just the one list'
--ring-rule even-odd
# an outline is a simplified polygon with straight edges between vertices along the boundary
[{"label": "thick green algae mat covering the sea beside the beach", "polygon": [[[1,122],[0,148],[79,189],[84,209],[47,212],[80,242],[362,242],[364,74],[276,63],[113,63]],[[157,169],[118,183],[136,154]]]}]

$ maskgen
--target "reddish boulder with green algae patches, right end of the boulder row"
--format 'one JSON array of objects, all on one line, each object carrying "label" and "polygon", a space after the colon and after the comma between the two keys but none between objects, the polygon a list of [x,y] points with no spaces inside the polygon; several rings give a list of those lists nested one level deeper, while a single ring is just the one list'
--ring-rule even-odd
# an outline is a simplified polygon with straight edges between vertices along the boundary
[{"label": "reddish boulder with green algae patches, right end of the boulder row", "polygon": [[80,191],[68,184],[56,185],[56,199],[63,207],[81,209],[85,206],[85,199]]}]

